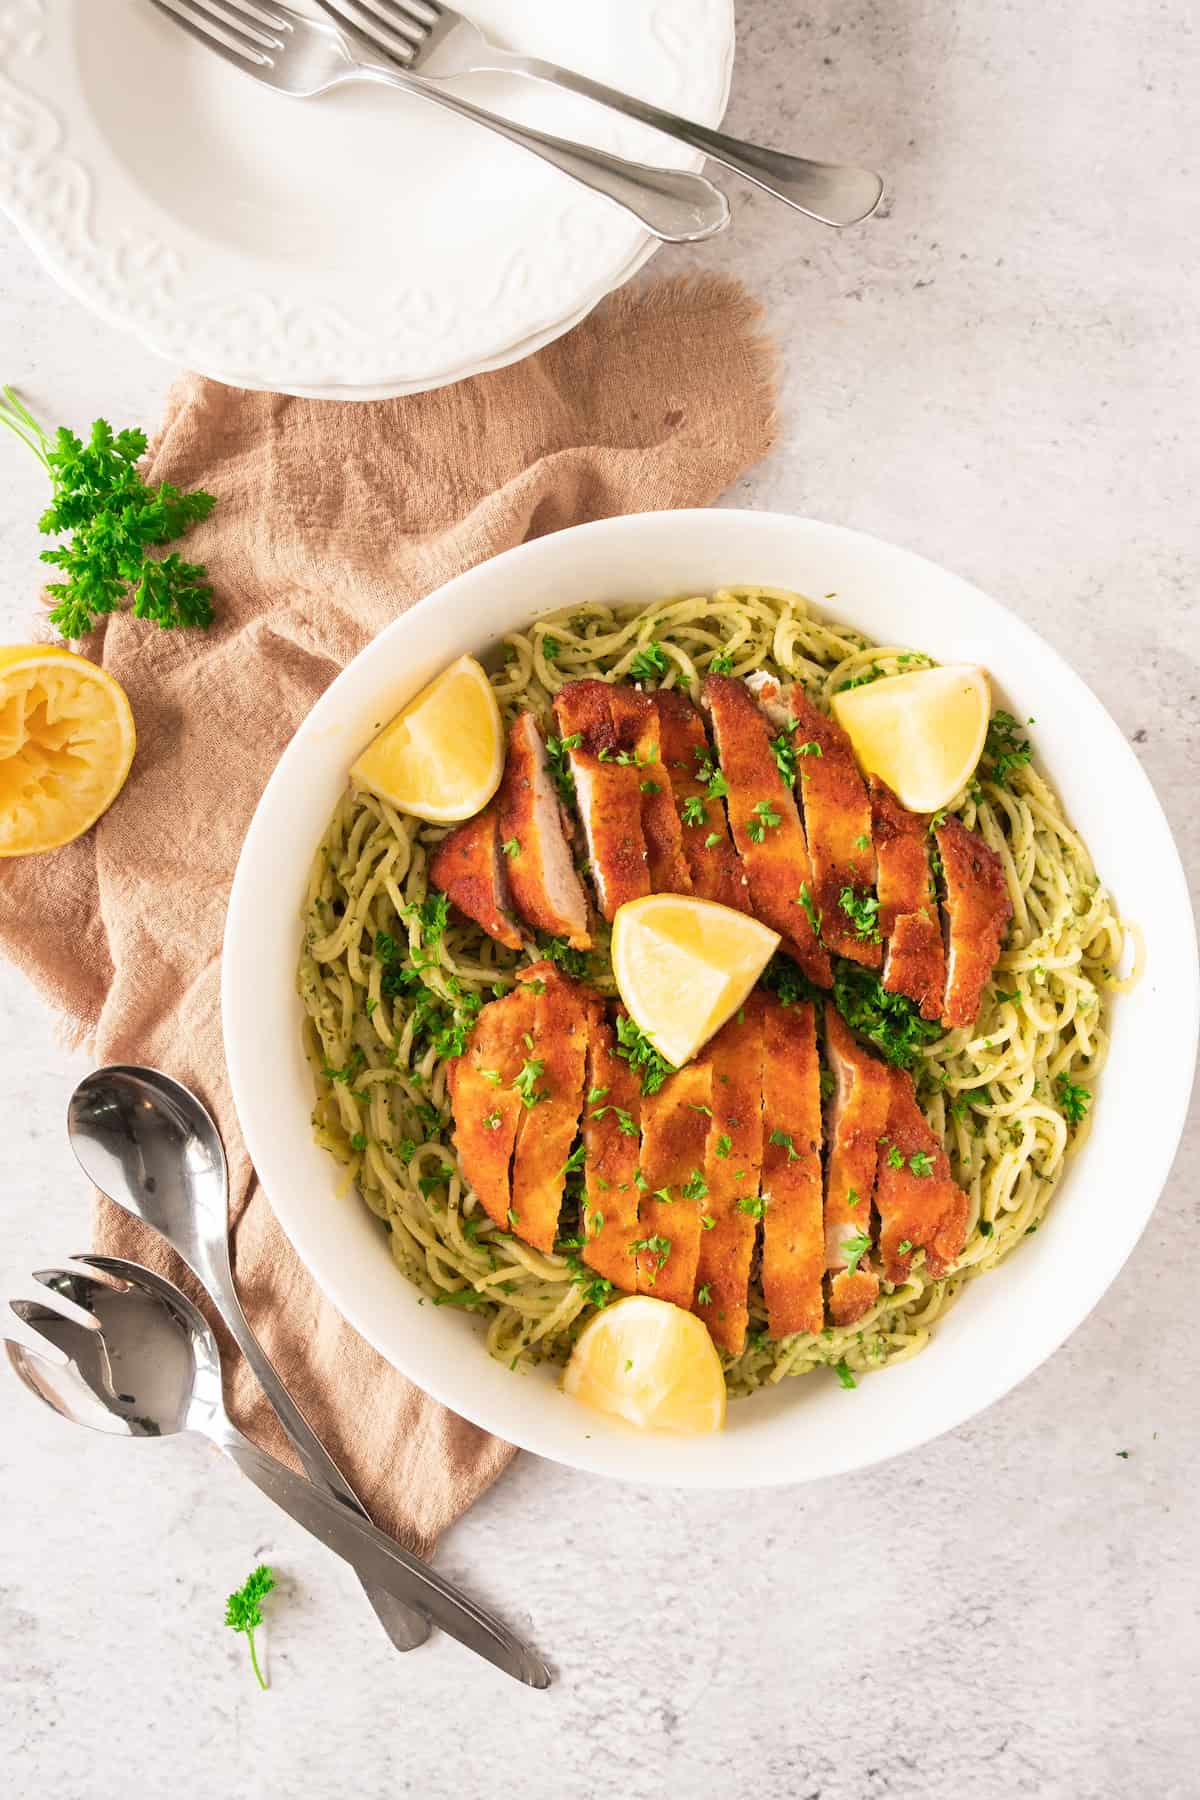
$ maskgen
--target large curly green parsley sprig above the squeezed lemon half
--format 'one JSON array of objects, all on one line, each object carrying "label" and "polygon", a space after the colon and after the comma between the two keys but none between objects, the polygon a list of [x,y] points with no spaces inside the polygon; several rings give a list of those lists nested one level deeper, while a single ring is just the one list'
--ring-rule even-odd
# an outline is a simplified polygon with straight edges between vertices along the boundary
[{"label": "large curly green parsley sprig above the squeezed lemon half", "polygon": [[97,617],[128,601],[137,619],[153,619],[164,630],[210,625],[205,565],[184,562],[176,551],[162,558],[148,553],[207,518],[216,499],[203,490],[182,493],[169,481],[149,488],[137,470],[146,432],[113,432],[97,419],[86,445],[65,427],[49,437],[11,387],[2,394],[0,425],[32,450],[54,488],[38,529],[65,538],[41,551],[41,562],[65,574],[47,589],[54,599],[50,625],[63,637],[85,637]]}]

